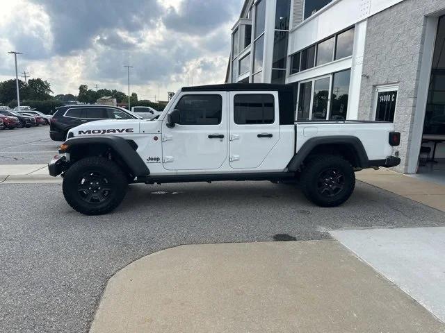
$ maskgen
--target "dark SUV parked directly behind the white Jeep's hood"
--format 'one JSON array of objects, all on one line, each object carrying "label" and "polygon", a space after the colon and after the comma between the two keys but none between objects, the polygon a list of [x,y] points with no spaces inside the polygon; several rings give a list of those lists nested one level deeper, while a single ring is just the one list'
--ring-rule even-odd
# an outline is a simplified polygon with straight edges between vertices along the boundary
[{"label": "dark SUV parked directly behind the white Jeep's hood", "polygon": [[54,112],[49,127],[49,137],[54,141],[65,141],[71,128],[103,119],[141,119],[141,117],[115,106],[65,105]]}]

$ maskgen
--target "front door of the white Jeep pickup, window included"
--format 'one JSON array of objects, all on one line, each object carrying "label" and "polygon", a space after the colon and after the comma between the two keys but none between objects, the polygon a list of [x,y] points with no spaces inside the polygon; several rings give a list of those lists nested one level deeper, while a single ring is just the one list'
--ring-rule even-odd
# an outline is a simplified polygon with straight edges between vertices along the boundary
[{"label": "front door of the white Jeep pickup, window included", "polygon": [[162,125],[163,167],[218,169],[227,159],[227,92],[186,92],[174,109],[179,123]]}]

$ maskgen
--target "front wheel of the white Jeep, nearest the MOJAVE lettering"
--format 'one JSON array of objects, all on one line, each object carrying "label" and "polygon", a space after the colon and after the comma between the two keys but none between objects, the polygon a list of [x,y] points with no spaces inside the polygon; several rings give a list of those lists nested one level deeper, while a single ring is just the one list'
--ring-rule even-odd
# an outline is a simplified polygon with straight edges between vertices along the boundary
[{"label": "front wheel of the white Jeep, nearest the MOJAVE lettering", "polygon": [[63,196],[79,213],[106,214],[124,199],[127,177],[115,162],[86,157],[74,163],[63,178]]}]

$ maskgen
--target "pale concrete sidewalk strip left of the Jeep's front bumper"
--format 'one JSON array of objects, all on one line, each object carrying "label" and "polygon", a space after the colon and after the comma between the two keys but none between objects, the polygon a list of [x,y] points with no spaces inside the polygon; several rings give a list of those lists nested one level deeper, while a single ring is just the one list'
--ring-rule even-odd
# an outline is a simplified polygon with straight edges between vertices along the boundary
[{"label": "pale concrete sidewalk strip left of the Jeep's front bumper", "polygon": [[51,177],[47,164],[0,165],[0,184],[60,183],[62,178]]}]

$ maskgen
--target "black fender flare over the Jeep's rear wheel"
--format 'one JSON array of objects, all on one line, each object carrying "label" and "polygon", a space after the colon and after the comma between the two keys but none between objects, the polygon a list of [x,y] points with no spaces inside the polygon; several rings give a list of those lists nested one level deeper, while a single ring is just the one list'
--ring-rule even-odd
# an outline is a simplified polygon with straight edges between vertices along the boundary
[{"label": "black fender flare over the Jeep's rear wheel", "polygon": [[350,135],[332,135],[327,137],[312,137],[302,145],[300,150],[292,157],[291,162],[287,165],[289,171],[298,171],[305,158],[316,148],[321,145],[344,144],[353,148],[357,154],[357,167],[368,168],[369,159],[364,146],[358,137]]}]

